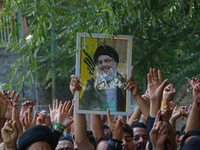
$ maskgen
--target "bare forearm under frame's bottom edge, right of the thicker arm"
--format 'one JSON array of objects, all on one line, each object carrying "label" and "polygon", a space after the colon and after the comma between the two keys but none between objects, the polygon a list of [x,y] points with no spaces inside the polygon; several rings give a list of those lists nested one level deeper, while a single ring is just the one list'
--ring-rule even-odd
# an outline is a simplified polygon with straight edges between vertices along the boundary
[{"label": "bare forearm under frame's bottom edge, right of the thicker arm", "polygon": [[104,136],[100,115],[91,115],[91,127],[95,140]]}]

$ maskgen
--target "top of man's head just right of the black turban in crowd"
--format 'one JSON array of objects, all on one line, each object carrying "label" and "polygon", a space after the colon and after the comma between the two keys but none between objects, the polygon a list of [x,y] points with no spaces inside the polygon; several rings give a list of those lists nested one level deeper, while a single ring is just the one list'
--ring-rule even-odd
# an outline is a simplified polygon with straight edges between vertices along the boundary
[{"label": "top of man's head just right of the black turban in crowd", "polygon": [[61,137],[58,141],[58,145],[56,147],[56,150],[73,150],[74,146],[73,146],[73,140],[72,137],[70,135],[66,136],[66,137]]}]

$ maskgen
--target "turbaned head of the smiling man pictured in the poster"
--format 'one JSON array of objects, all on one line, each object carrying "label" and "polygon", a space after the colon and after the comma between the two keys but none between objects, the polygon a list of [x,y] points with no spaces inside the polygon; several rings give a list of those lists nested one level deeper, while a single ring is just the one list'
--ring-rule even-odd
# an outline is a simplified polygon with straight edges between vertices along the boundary
[{"label": "turbaned head of the smiling man pictured in the poster", "polygon": [[111,74],[112,71],[116,72],[119,55],[110,46],[99,46],[94,53],[94,61],[98,66],[99,73],[105,76]]}]

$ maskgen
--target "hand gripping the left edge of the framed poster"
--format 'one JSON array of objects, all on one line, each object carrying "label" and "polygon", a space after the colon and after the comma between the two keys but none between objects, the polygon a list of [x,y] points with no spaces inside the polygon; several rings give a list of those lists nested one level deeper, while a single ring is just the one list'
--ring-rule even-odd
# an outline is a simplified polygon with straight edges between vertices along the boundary
[{"label": "hand gripping the left edge of the framed poster", "polygon": [[82,87],[79,85],[80,81],[76,75],[71,75],[71,82],[70,82],[70,91],[73,95],[75,95],[75,91],[82,90]]}]

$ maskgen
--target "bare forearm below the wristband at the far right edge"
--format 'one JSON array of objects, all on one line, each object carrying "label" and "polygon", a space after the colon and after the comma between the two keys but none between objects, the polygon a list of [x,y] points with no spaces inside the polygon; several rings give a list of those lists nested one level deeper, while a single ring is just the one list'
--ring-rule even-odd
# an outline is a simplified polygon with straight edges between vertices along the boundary
[{"label": "bare forearm below the wristband at the far right edge", "polygon": [[200,126],[200,106],[193,102],[191,112],[186,123],[186,132],[199,128]]}]

